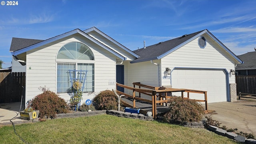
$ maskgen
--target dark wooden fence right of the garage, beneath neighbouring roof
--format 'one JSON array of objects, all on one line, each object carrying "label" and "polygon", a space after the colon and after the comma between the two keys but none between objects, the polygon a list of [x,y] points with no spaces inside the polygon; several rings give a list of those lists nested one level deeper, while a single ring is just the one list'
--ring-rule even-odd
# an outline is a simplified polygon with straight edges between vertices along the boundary
[{"label": "dark wooden fence right of the garage, beneath neighbouring roof", "polygon": [[256,76],[236,76],[236,92],[256,94]]}]

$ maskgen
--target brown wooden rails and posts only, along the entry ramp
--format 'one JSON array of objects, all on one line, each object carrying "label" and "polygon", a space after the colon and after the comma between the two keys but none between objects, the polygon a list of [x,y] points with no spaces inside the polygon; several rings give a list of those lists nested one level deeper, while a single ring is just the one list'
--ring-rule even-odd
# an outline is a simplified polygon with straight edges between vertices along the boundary
[{"label": "brown wooden rails and posts only, along the entry ramp", "polygon": [[[170,93],[170,92],[181,92],[182,98],[185,98],[184,97],[184,92],[187,92],[188,95],[187,95],[186,98],[188,98],[188,99],[189,99],[189,93],[190,92],[204,94],[204,100],[196,100],[196,101],[205,102],[205,109],[206,109],[205,111],[208,112],[207,92],[206,91],[178,89],[178,88],[153,87],[153,86],[140,84],[140,82],[134,82],[133,85],[134,85],[134,87],[130,87],[130,86],[126,86],[126,85],[123,85],[123,84],[116,83],[116,87],[120,86],[122,88],[132,90],[132,95],[126,94],[126,93],[121,92],[121,91],[117,91],[118,94],[122,94],[122,95],[125,95],[125,96],[129,97],[129,98],[132,98],[133,108],[136,108],[136,105],[135,105],[136,100],[140,100],[140,101],[148,102],[148,103],[152,104],[152,116],[153,116],[153,118],[156,118],[156,106],[157,106],[157,104],[162,105],[164,103],[167,103],[169,98],[172,98],[172,96],[168,96],[168,93]],[[139,88],[135,88],[135,86],[139,86]],[[142,89],[141,87],[148,88],[148,89]],[[139,93],[138,96],[136,96],[136,92]],[[150,96],[151,97],[150,100],[141,98],[140,97],[141,94],[145,94],[147,96]],[[143,114],[146,113],[144,110],[141,110],[141,111],[142,111]]]}]

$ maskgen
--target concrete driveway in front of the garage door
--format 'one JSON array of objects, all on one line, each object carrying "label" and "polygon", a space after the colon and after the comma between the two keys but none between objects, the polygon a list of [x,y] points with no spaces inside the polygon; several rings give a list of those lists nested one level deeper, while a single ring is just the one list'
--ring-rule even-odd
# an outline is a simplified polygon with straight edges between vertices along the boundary
[{"label": "concrete driveway in front of the garage door", "polygon": [[256,99],[211,103],[208,104],[208,110],[210,112],[207,115],[222,123],[220,126],[237,128],[238,132],[256,136]]}]

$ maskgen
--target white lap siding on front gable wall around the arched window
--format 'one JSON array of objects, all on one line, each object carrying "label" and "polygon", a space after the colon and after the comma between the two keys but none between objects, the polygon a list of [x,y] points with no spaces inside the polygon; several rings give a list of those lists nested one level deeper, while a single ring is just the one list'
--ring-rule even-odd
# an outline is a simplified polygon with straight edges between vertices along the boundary
[{"label": "white lap siding on front gable wall around the arched window", "polygon": [[[74,34],[27,52],[26,100],[42,93],[38,90],[40,86],[46,86],[51,91],[56,92],[57,52],[69,42],[86,44],[95,57],[95,89],[93,93],[83,94],[83,101],[92,99],[100,91],[115,89],[115,85],[108,85],[108,83],[109,80],[116,80],[116,56],[84,38],[84,36]],[[81,63],[86,62],[81,61]],[[70,99],[68,94],[60,94],[60,96],[66,100]]]}]

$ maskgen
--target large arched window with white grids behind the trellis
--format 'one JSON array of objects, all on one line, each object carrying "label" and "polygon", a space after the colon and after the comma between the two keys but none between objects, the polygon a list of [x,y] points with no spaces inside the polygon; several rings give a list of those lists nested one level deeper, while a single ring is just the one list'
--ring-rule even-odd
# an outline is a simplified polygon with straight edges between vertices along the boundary
[{"label": "large arched window with white grids behind the trellis", "polygon": [[65,44],[60,48],[56,61],[57,93],[70,92],[70,77],[75,77],[70,70],[87,70],[83,92],[94,92],[94,55],[88,46],[80,42]]}]

